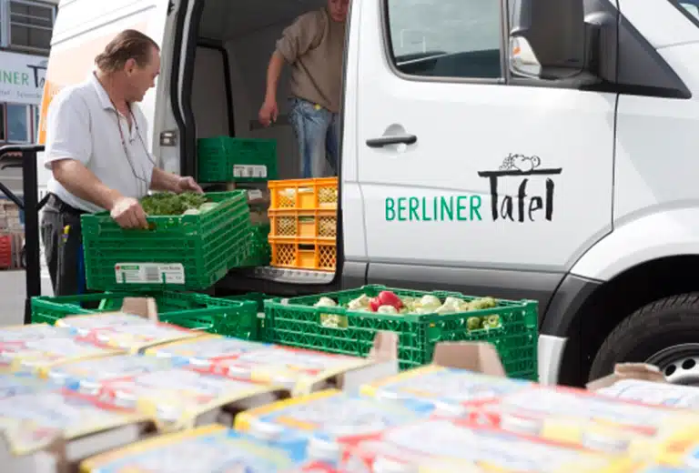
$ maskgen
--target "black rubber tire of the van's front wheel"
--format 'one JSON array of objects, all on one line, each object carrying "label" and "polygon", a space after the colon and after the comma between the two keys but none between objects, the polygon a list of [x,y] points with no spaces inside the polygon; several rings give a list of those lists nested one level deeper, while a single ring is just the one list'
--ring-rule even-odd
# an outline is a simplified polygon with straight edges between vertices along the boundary
[{"label": "black rubber tire of the van's front wheel", "polygon": [[594,358],[589,379],[622,362],[645,362],[661,350],[699,345],[699,293],[665,297],[636,310],[614,328]]}]

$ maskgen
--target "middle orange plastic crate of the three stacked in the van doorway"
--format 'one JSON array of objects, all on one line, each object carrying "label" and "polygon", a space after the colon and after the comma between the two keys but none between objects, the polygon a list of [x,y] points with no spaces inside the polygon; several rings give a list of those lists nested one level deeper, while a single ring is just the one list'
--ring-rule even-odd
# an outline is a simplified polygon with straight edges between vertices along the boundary
[{"label": "middle orange plastic crate of the three stacked in the van doorway", "polygon": [[269,237],[321,238],[338,235],[336,210],[269,210]]}]

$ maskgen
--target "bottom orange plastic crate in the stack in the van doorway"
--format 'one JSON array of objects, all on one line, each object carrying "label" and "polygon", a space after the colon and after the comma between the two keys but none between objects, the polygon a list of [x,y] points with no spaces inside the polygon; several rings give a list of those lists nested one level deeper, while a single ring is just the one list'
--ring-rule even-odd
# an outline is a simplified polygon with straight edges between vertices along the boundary
[{"label": "bottom orange plastic crate in the stack in the van doorway", "polygon": [[336,243],[317,238],[269,237],[272,267],[292,267],[315,271],[335,271]]}]

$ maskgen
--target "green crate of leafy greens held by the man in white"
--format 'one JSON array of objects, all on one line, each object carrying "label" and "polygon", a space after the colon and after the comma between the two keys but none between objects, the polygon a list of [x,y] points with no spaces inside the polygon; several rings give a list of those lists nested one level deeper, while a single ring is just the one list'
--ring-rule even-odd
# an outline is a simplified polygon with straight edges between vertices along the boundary
[{"label": "green crate of leafy greens held by the man in white", "polygon": [[82,216],[87,287],[207,289],[246,257],[245,191],[209,193],[219,205],[198,215],[149,216],[150,229],[123,229],[102,212]]}]

